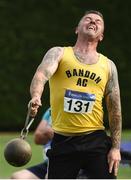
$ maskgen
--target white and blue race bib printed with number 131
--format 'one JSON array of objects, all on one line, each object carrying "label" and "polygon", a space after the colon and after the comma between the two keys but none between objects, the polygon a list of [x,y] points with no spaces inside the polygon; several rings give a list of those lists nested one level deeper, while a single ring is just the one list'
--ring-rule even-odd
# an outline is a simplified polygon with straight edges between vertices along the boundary
[{"label": "white and blue race bib printed with number 131", "polygon": [[66,90],[64,111],[69,113],[92,113],[95,94]]}]

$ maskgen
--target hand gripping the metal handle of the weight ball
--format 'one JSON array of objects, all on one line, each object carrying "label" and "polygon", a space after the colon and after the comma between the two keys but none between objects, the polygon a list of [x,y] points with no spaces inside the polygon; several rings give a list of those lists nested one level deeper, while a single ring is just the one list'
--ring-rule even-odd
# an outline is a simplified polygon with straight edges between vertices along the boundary
[{"label": "hand gripping the metal handle of the weight ball", "polygon": [[28,108],[30,108],[30,116],[35,117],[39,106],[42,106],[41,104],[41,99],[39,97],[33,97],[29,103],[28,103]]}]

